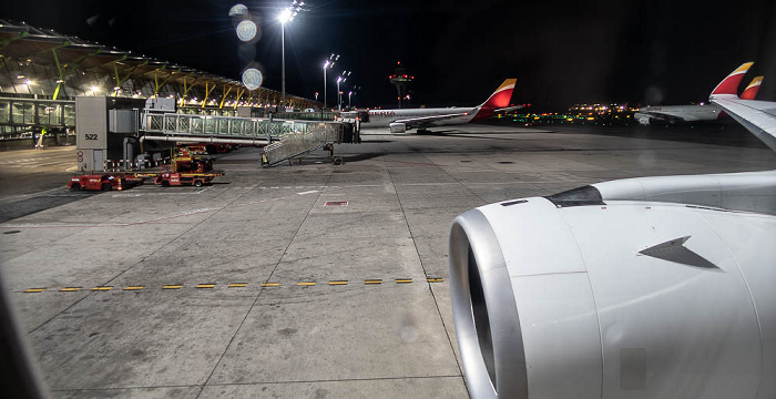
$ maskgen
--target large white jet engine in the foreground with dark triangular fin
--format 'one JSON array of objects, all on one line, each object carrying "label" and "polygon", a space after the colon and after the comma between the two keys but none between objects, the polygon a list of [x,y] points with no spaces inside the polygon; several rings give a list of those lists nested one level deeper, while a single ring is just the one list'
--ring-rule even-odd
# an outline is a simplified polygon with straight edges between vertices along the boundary
[{"label": "large white jet engine in the foreground with dark triangular fin", "polygon": [[776,216],[583,194],[453,221],[472,398],[776,397]]}]

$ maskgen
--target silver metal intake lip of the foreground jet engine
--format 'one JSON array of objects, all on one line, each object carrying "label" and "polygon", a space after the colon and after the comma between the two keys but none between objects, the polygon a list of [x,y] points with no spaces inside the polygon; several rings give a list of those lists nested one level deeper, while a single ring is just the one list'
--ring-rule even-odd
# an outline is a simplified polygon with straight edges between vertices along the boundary
[{"label": "silver metal intake lip of the foreground jet engine", "polygon": [[479,211],[450,229],[450,295],[472,398],[528,398],[520,318],[501,247]]}]

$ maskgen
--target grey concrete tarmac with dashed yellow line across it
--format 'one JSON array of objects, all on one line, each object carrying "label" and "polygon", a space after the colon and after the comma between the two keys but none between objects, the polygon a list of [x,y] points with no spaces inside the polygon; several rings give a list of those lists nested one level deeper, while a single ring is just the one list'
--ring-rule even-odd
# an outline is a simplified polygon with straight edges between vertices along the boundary
[{"label": "grey concrete tarmac with dashed yellow line across it", "polygon": [[776,168],[737,125],[453,127],[366,131],[335,147],[341,165],[318,152],[262,168],[241,149],[212,186],[81,195],[0,224],[3,289],[51,396],[468,398],[457,215],[606,180]]}]

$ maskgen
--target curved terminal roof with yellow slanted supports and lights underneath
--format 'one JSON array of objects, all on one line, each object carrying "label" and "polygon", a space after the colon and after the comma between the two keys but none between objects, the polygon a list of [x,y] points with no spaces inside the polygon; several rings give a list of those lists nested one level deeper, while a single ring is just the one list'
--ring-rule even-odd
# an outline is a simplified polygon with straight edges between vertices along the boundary
[{"label": "curved terminal roof with yellow slanted supports and lights underneath", "polygon": [[[131,51],[89,42],[24,22],[0,20],[0,91],[8,95],[174,96],[202,106],[280,105],[280,92]],[[8,72],[8,73],[3,73]],[[96,90],[95,90],[96,89]],[[286,94],[286,105],[317,102]]]}]

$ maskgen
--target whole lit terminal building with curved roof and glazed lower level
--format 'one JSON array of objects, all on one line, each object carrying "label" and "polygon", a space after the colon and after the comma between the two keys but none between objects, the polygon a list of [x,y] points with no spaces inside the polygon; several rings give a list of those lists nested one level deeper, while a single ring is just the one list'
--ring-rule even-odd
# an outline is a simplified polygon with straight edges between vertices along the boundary
[{"label": "whole lit terminal building with curved roof and glazed lower level", "polygon": [[314,100],[242,82],[75,37],[0,20],[0,146],[74,143],[76,98],[108,109],[172,99],[177,113],[258,116],[315,109]]}]

